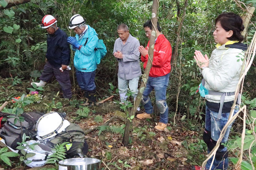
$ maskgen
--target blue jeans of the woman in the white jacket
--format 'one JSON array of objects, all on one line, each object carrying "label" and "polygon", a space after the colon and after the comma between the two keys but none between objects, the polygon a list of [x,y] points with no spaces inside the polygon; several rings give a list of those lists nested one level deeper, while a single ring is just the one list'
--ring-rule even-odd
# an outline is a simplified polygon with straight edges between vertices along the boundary
[{"label": "blue jeans of the woman in the white jacket", "polygon": [[[235,111],[234,111],[234,115],[238,112],[238,106],[236,106]],[[211,111],[207,105],[206,105],[206,109],[205,109],[205,129],[208,131],[211,131],[211,137],[214,141],[217,141],[220,137],[220,132],[223,129],[223,127],[225,126],[225,124],[228,122],[228,117],[229,117],[229,112],[227,113],[222,113],[221,117],[222,119],[217,120],[218,117],[218,112],[213,112]],[[233,122],[228,126],[228,129],[222,139],[222,143],[225,143],[228,141],[228,135],[231,129]],[[210,153],[211,151],[208,149],[208,153]],[[219,148],[217,152],[227,152],[227,147],[224,148]],[[210,166],[212,164],[212,158],[211,157],[207,163],[205,168],[210,169]],[[224,168],[223,168],[224,167]],[[228,158],[224,160],[216,160],[216,157],[213,161],[212,164],[212,170],[215,169],[222,169],[222,170],[227,170],[228,169]]]}]

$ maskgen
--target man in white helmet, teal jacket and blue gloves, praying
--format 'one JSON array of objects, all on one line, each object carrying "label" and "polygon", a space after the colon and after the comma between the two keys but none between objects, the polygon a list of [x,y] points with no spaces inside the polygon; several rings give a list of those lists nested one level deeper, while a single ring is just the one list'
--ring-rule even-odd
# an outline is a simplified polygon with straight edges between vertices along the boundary
[{"label": "man in white helmet, teal jacket and blue gloves, praying", "polygon": [[76,78],[80,88],[84,91],[84,97],[89,99],[90,106],[96,102],[96,85],[94,83],[97,63],[94,49],[98,44],[98,34],[85,24],[84,18],[76,14],[70,18],[69,28],[74,29],[75,37],[68,37],[68,43],[75,52],[74,65]]}]

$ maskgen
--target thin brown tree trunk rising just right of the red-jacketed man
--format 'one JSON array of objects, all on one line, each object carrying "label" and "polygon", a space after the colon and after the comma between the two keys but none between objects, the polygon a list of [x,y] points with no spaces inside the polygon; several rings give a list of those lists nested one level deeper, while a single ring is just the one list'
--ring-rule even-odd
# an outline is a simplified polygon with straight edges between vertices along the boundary
[{"label": "thin brown tree trunk rising just right of the red-jacketed man", "polygon": [[178,29],[178,32],[177,32],[176,45],[175,45],[174,50],[172,51],[171,73],[172,73],[173,64],[174,64],[174,61],[175,61],[175,58],[176,58],[177,52],[178,52],[178,46],[179,46],[179,42],[180,42],[180,32],[181,32],[181,28],[183,26],[183,21],[184,21],[185,15],[186,15],[187,6],[188,6],[188,0],[185,0],[185,4],[184,4],[184,8],[183,8],[183,14],[182,14],[182,18],[181,18],[181,21],[180,21],[180,26],[179,26],[179,29]]}]

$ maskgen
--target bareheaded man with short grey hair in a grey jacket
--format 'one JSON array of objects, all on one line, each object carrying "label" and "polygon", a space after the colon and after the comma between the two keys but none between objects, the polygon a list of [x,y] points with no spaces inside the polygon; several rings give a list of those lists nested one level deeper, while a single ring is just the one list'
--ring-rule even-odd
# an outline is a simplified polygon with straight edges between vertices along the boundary
[{"label": "bareheaded man with short grey hair in a grey jacket", "polygon": [[127,88],[132,91],[135,100],[138,94],[138,82],[141,76],[140,69],[140,42],[133,37],[126,24],[117,26],[119,38],[116,39],[113,54],[118,61],[118,89],[122,103],[127,99]]}]

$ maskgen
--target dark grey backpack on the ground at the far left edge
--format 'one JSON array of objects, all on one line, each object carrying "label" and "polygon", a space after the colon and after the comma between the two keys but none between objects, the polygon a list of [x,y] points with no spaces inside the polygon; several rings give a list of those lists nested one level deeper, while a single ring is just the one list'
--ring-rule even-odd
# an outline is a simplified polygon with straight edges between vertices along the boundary
[{"label": "dark grey backpack on the ground at the far left edge", "polygon": [[20,122],[14,124],[14,118],[9,118],[4,123],[4,127],[0,129],[0,137],[5,140],[5,144],[12,149],[17,147],[17,142],[21,142],[21,128],[22,132],[33,140],[36,137],[35,128],[37,120],[44,115],[40,112],[28,112],[23,113],[24,122],[21,122],[22,127],[20,127]]}]

